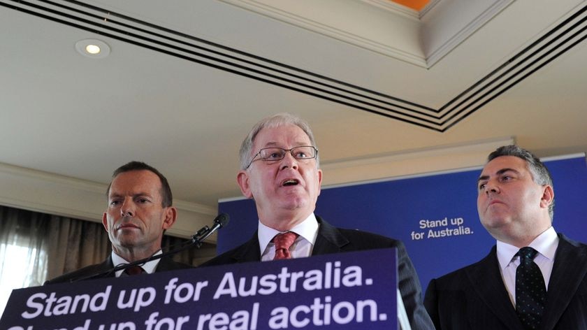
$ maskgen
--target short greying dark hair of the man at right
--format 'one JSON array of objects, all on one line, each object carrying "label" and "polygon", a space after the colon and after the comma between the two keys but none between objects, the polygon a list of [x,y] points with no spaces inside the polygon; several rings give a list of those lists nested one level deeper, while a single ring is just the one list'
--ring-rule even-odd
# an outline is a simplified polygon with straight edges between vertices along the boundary
[{"label": "short greying dark hair of the man at right", "polygon": [[[528,165],[528,170],[532,174],[532,180],[539,185],[549,185],[554,189],[552,175],[549,169],[532,152],[520,148],[518,145],[504,145],[491,152],[487,157],[487,162],[491,162],[493,159],[502,156],[514,156],[525,160]],[[554,198],[549,206],[549,215],[552,220],[554,217]]]}]

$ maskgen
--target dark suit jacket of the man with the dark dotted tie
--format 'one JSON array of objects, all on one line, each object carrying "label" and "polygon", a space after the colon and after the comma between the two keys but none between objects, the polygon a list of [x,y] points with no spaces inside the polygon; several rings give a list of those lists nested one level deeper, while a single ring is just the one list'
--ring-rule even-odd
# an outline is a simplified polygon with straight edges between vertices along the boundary
[{"label": "dark suit jacket of the man with the dark dotted tie", "polygon": [[[560,241],[537,330],[587,330],[587,245]],[[424,305],[438,330],[523,330],[494,246],[481,261],[431,280]]]}]

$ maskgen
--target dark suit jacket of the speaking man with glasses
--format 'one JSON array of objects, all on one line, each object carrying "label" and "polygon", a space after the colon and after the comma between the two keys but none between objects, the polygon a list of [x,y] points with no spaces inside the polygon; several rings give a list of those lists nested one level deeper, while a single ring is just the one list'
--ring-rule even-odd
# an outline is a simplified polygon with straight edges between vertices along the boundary
[{"label": "dark suit jacket of the speaking man with glasses", "polygon": [[[400,241],[364,231],[335,228],[317,217],[320,224],[312,255],[331,254],[358,250],[372,250],[384,247],[398,249],[398,282],[403,302],[413,330],[434,329],[430,317],[422,305],[422,291],[418,275],[408,257],[405,246]],[[247,243],[220,254],[202,266],[235,264],[247,261],[260,261],[259,236],[255,232]],[[396,292],[389,292],[396,294]]]}]

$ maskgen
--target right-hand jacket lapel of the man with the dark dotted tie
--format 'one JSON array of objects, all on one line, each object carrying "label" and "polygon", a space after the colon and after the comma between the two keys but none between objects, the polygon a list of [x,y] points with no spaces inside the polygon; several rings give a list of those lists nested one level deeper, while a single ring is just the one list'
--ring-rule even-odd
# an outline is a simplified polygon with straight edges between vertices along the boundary
[{"label": "right-hand jacket lapel of the man with the dark dotted tie", "polygon": [[579,247],[563,234],[558,234],[560,241],[554,257],[554,265],[546,294],[546,308],[541,329],[553,329],[569,306],[577,287],[586,277],[587,249]]}]

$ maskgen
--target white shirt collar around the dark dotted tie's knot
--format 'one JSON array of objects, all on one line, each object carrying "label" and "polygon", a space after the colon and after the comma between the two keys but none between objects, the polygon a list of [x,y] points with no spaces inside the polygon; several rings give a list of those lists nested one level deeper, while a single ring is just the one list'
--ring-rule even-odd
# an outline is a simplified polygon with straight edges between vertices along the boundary
[{"label": "white shirt collar around the dark dotted tie's knot", "polygon": [[[546,229],[542,234],[534,238],[534,241],[528,245],[537,250],[539,254],[542,254],[546,259],[550,261],[554,260],[554,254],[556,253],[556,247],[558,247],[558,236],[554,227]],[[498,241],[498,261],[500,268],[503,270],[507,265],[514,259],[516,253],[520,250],[519,247]]]}]

